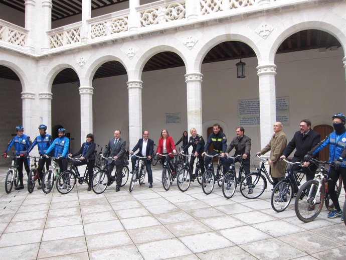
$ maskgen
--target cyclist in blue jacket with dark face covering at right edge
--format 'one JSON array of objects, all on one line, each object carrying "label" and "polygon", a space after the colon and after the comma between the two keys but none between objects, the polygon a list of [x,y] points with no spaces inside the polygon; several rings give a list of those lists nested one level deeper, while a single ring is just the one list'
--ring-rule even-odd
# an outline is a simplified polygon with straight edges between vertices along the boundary
[{"label": "cyclist in blue jacket with dark face covering at right edge", "polygon": [[343,189],[346,191],[346,117],[342,113],[337,113],[332,116],[332,119],[334,132],[319,142],[304,157],[305,161],[309,161],[312,156],[329,145],[329,163],[334,162],[334,165],[329,168],[328,172],[328,193],[335,209],[328,214],[328,218],[342,217],[342,211],[334,189],[340,175],[343,182]]}]

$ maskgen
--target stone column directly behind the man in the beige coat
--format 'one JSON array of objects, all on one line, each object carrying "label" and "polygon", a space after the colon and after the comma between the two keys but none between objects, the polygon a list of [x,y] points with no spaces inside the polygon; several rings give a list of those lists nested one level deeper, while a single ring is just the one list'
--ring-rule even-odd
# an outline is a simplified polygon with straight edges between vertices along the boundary
[{"label": "stone column directly behind the man in the beige coat", "polygon": [[273,135],[273,124],[276,122],[275,75],[276,65],[257,66],[259,80],[259,100],[261,119],[261,149]]}]

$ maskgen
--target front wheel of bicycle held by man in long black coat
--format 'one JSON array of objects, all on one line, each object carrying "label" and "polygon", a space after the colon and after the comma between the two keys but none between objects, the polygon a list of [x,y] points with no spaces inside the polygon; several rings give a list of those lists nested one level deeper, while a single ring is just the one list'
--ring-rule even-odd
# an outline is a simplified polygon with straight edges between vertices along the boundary
[{"label": "front wheel of bicycle held by man in long black coat", "polygon": [[291,203],[293,193],[293,186],[288,180],[279,181],[271,193],[271,207],[276,212],[284,211],[288,207],[289,203]]}]

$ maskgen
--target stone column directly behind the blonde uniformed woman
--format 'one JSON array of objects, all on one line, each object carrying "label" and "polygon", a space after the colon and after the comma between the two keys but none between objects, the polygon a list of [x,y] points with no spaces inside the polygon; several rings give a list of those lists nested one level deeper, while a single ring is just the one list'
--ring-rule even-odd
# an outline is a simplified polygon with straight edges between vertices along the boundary
[{"label": "stone column directly behind the blonde uniformed woman", "polygon": [[200,72],[188,72],[185,74],[187,88],[188,133],[195,127],[197,133],[203,134],[202,121],[202,77]]}]

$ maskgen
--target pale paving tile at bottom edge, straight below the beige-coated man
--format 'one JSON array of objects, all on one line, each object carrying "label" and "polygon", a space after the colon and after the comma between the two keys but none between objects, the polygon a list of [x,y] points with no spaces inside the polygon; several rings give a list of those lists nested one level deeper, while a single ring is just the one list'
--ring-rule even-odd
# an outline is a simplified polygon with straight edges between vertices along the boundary
[{"label": "pale paving tile at bottom edge, straight below the beige-coated man", "polygon": [[306,255],[306,253],[277,240],[276,238],[239,245],[258,259],[286,260]]}]

